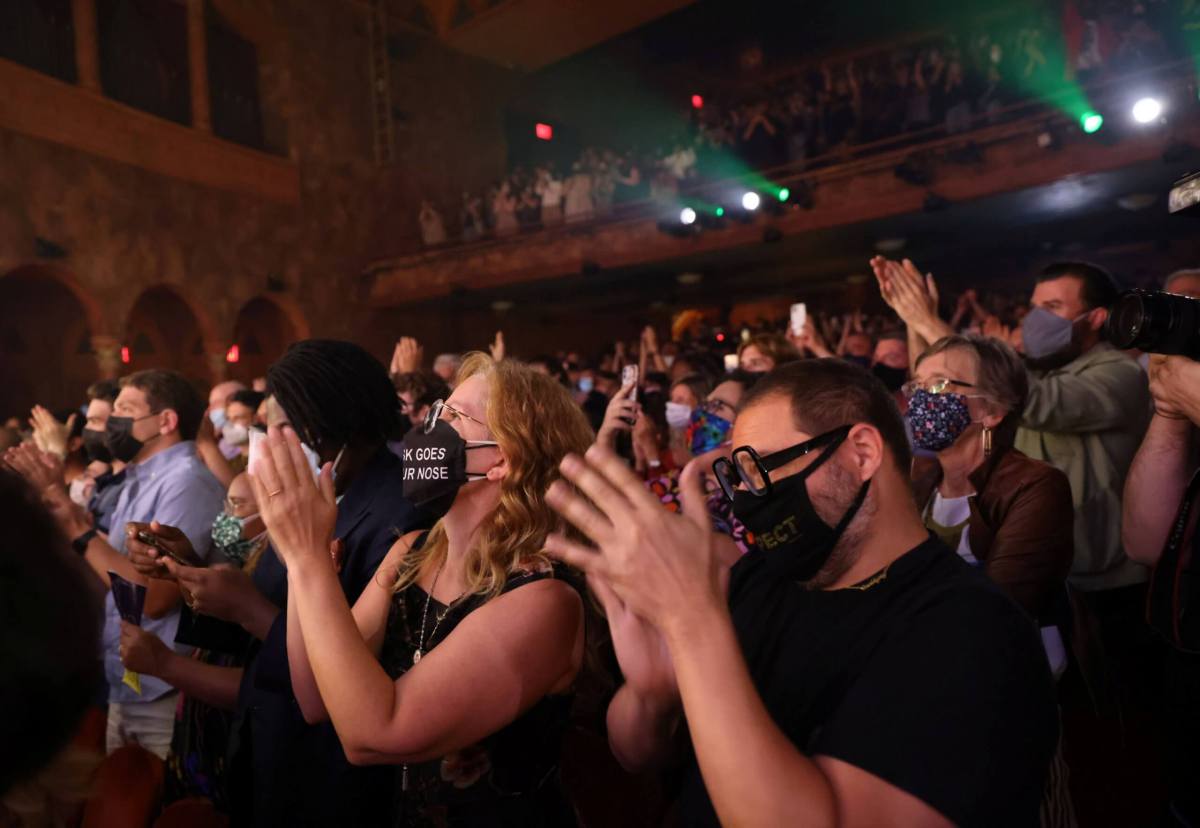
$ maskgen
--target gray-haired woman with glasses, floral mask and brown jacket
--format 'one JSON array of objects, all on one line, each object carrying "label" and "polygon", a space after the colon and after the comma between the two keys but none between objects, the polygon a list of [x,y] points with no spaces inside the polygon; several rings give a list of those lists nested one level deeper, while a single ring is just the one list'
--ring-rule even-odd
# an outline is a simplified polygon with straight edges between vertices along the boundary
[{"label": "gray-haired woman with glasses, floral mask and brown jacket", "polygon": [[1067,667],[1056,624],[1074,553],[1067,475],[1013,448],[1028,377],[1000,340],[948,336],[917,358],[905,385],[912,466],[925,526],[979,566],[1042,628],[1054,674]]}]

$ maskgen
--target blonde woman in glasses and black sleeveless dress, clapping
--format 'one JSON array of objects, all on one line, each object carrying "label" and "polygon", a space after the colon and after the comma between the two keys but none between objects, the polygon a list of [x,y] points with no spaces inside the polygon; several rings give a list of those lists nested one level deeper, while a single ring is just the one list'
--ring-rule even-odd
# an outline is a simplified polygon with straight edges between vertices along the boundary
[{"label": "blonde woman in glasses and black sleeveless dress, clapping", "polygon": [[252,472],[288,566],[296,700],[352,762],[391,766],[394,824],[574,824],[558,760],[584,606],[545,553],[562,528],[545,497],[592,438],[551,377],[469,355],[401,450],[406,496],[442,517],[352,602],[326,553],[330,469],[313,482],[298,436],[271,430]]}]

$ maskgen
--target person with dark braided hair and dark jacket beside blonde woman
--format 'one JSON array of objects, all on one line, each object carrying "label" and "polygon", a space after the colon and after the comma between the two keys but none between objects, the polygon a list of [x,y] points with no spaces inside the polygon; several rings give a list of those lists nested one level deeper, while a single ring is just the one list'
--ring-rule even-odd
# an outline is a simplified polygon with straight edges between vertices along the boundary
[{"label": "person with dark braided hair and dark jacket beside blonde woman", "polygon": [[[353,604],[396,538],[431,523],[403,498],[402,463],[386,448],[400,426],[396,391],[367,352],[331,340],[293,344],[268,371],[266,386],[270,425],[295,430],[314,473],[332,464],[338,508],[330,554]],[[252,456],[251,473],[254,462]],[[272,548],[254,581],[287,610],[287,570]],[[288,674],[287,616],[276,617],[239,692],[230,738],[234,820],[380,824],[394,776],[386,768],[352,768],[329,722],[305,724]]]}]

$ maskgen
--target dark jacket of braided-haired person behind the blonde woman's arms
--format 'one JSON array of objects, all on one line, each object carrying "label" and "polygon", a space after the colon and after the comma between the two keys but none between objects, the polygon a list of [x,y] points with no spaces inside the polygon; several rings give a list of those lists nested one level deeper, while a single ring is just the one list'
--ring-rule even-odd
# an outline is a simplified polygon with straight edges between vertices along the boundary
[{"label": "dark jacket of braided-haired person behind the blonde woman's arms", "polygon": [[[397,536],[430,521],[402,491],[403,464],[380,448],[337,508],[344,544],[338,578],[353,605]],[[254,581],[284,611],[247,662],[229,748],[235,824],[377,826],[390,822],[395,769],[355,768],[334,726],[307,725],[292,692],[287,650],[287,571],[264,552]]]}]

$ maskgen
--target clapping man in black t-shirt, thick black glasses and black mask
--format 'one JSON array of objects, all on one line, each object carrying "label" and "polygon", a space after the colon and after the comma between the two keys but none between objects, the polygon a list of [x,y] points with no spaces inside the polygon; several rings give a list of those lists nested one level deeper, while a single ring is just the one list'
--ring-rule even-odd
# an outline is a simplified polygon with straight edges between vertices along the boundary
[{"label": "clapping man in black t-shirt, thick black glasses and black mask", "polygon": [[1037,630],[930,536],[887,389],[785,365],[732,437],[714,474],[756,538],[732,568],[698,482],[672,515],[596,448],[562,464],[581,494],[550,492],[592,541],[547,547],[605,605],[617,758],[682,749],[689,826],[1036,824],[1057,731]]}]

